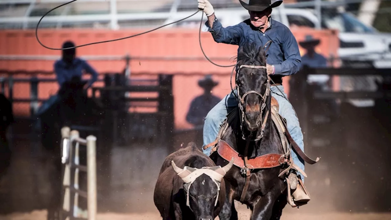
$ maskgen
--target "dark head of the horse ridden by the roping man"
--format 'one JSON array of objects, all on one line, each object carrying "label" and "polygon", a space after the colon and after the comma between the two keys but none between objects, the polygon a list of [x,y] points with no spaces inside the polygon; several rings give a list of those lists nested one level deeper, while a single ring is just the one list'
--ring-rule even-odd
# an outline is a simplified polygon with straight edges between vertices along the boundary
[{"label": "dark head of the horse ridden by the roping man", "polygon": [[254,43],[240,47],[236,72],[242,125],[255,131],[261,124],[270,90],[264,48],[257,48]]}]

